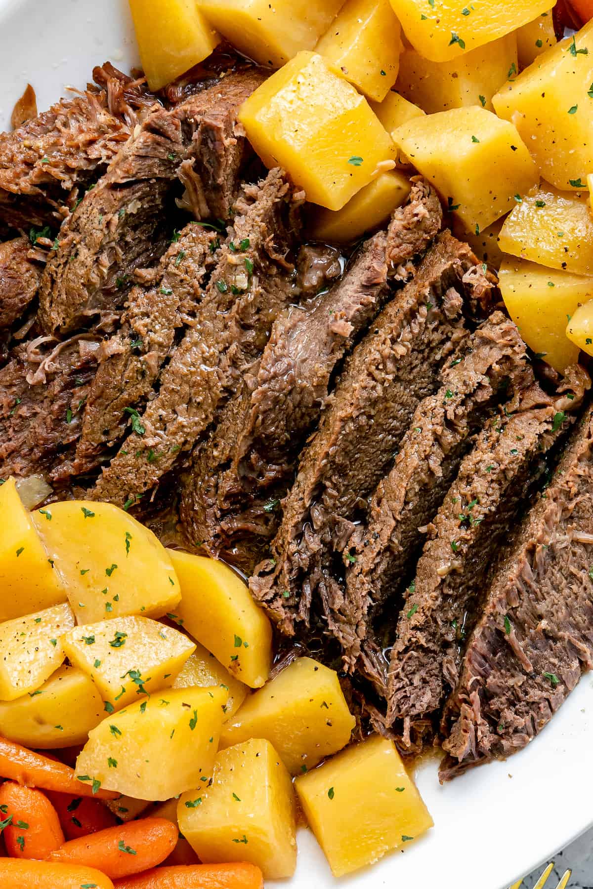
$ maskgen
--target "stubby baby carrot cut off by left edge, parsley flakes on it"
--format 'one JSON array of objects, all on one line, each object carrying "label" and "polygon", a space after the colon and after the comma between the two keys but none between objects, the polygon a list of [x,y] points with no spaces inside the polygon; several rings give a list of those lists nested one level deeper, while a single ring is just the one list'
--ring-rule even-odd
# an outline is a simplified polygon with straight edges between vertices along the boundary
[{"label": "stubby baby carrot cut off by left edge, parsley flakes on it", "polygon": [[4,843],[12,858],[43,861],[64,842],[58,813],[41,790],[4,781],[0,813],[3,819],[10,819],[4,828]]}]

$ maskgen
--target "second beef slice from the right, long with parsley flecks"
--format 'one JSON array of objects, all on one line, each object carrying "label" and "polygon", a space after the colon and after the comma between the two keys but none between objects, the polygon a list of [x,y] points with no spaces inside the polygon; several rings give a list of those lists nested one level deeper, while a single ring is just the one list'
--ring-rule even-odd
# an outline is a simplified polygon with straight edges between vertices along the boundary
[{"label": "second beef slice from the right, long with parsley flecks", "polygon": [[[582,396],[582,392],[581,392]],[[581,397],[580,396],[580,397]],[[389,664],[388,723],[434,713],[458,680],[488,568],[546,469],[545,455],[571,425],[580,397],[537,383],[489,420],[437,517],[407,590]]]}]

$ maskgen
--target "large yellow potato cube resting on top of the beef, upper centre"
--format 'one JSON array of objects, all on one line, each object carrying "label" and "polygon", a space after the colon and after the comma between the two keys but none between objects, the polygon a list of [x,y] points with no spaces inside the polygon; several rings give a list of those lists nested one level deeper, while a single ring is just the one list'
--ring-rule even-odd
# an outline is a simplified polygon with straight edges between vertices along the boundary
[{"label": "large yellow potato cube resting on top of the beef, upper centre", "polygon": [[315,52],[300,52],[261,84],[239,120],[264,164],[284,167],[309,201],[330,210],[341,210],[394,157],[365,98]]}]

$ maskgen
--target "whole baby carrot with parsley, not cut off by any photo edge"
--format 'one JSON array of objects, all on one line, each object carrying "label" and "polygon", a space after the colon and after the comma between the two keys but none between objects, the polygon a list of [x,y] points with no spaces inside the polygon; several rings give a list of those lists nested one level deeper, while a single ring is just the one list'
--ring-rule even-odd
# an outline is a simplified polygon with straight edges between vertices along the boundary
[{"label": "whole baby carrot with parsley, not cut off by any photo edge", "polygon": [[48,861],[93,864],[116,879],[154,868],[172,853],[178,829],[165,818],[141,818],[89,837],[72,839],[53,852]]}]

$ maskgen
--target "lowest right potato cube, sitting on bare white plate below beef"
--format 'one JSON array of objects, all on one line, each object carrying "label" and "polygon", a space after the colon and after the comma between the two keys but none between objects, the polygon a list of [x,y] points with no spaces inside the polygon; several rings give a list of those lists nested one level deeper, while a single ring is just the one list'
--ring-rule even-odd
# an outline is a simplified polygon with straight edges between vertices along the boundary
[{"label": "lowest right potato cube, sitting on bare white plate below beef", "polygon": [[396,745],[377,735],[301,775],[295,787],[334,877],[378,861],[433,825]]}]

